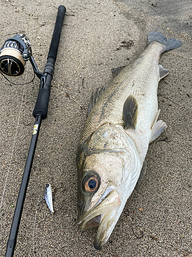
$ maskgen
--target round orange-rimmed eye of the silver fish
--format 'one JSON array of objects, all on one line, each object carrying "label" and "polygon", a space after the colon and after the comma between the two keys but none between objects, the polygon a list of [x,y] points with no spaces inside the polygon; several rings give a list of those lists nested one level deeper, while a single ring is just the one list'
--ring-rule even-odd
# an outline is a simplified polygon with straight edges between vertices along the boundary
[{"label": "round orange-rimmed eye of the silver fish", "polygon": [[100,177],[95,174],[88,174],[83,178],[82,185],[88,193],[96,192],[100,186]]}]

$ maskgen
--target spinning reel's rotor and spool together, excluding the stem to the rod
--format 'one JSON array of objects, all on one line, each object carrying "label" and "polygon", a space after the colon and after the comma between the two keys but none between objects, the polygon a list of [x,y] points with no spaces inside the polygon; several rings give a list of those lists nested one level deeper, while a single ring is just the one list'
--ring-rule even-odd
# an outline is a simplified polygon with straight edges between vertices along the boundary
[{"label": "spinning reel's rotor and spool together, excluding the stem to the rod", "polygon": [[16,34],[0,49],[0,71],[11,77],[24,73],[26,61],[32,56],[31,44],[24,34]]}]

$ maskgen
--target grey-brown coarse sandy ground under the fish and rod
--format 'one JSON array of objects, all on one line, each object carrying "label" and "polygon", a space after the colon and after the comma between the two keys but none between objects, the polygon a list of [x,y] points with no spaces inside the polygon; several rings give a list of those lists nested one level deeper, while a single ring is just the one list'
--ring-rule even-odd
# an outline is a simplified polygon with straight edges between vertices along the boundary
[{"label": "grey-brown coarse sandy ground under the fish and rod", "polygon": [[[39,134],[15,257],[192,254],[192,5],[189,1],[166,2],[1,1],[1,45],[10,36],[25,33],[41,71],[46,64],[57,8],[61,4],[67,8],[48,118],[42,122]],[[98,251],[93,247],[96,229],[77,229],[77,144],[92,91],[110,83],[112,68],[129,64],[139,56],[151,30],[182,42],[181,47],[163,53],[160,60],[169,70],[158,89],[160,119],[168,127],[150,144],[142,184],[127,200],[108,244]],[[25,73],[11,81],[24,83],[31,77],[29,64],[27,79]],[[31,141],[38,87],[37,78],[29,85],[18,86],[1,77],[1,256],[5,255]],[[54,215],[45,201],[40,201],[47,182],[54,189]]]}]

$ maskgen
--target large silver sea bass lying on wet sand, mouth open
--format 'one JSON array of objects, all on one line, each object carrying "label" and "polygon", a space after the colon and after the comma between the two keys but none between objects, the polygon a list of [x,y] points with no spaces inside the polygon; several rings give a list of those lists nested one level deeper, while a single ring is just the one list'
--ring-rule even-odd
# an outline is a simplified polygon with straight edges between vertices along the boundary
[{"label": "large silver sea bass lying on wet sand, mouth open", "polygon": [[108,241],[136,186],[148,144],[167,126],[157,121],[158,83],[168,74],[159,58],[181,42],[152,31],[147,43],[133,64],[92,95],[78,146],[78,226],[98,226],[96,249]]}]

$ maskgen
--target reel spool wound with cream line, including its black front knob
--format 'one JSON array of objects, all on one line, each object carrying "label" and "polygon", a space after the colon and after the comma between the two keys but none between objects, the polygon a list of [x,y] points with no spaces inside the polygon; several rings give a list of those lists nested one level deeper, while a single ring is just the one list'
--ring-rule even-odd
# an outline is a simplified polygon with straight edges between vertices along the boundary
[{"label": "reel spool wound with cream line, including its black front knob", "polygon": [[24,47],[14,39],[8,39],[0,52],[0,70],[3,74],[18,77],[24,73]]}]

